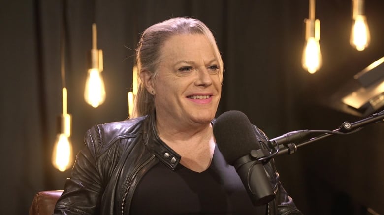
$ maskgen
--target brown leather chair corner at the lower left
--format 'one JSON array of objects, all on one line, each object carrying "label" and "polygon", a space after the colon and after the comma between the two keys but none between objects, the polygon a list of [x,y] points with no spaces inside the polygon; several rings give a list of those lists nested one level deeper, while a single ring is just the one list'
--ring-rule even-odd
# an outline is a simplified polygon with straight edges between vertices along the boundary
[{"label": "brown leather chair corner at the lower left", "polygon": [[53,210],[63,190],[49,190],[38,192],[32,201],[30,215],[52,215]]}]

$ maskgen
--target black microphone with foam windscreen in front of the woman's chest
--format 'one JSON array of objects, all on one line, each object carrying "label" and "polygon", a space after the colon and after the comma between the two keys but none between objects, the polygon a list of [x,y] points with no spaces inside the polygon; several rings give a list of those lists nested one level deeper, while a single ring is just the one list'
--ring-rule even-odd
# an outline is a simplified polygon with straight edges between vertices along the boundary
[{"label": "black microphone with foam windscreen in front of the woman's chest", "polygon": [[262,150],[248,117],[240,111],[227,111],[216,119],[213,133],[226,162],[235,166],[252,203],[257,206],[272,201],[275,194],[263,164],[256,161],[255,154]]}]

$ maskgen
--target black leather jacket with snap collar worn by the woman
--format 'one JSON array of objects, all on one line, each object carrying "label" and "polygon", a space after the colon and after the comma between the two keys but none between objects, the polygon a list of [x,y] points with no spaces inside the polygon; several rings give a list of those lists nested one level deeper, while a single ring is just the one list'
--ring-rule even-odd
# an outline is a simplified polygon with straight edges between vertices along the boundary
[{"label": "black leather jacket with snap collar worn by the woman", "polygon": [[[151,167],[162,162],[175,170],[181,157],[160,140],[154,118],[149,115],[90,129],[85,135],[87,147],[77,154],[54,214],[128,215],[135,187]],[[265,141],[262,131],[256,130]],[[276,193],[266,214],[301,214],[281,186],[273,160],[264,168]]]}]

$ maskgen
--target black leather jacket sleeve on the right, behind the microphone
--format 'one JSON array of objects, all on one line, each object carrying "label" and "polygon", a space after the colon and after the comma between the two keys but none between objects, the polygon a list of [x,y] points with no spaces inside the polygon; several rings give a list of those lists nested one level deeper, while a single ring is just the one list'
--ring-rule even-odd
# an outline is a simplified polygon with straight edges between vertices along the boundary
[{"label": "black leather jacket sleeve on the right, behind the microphone", "polygon": [[[255,126],[257,138],[260,142],[261,148],[266,148],[268,137],[265,133]],[[275,199],[270,202],[271,210],[275,210],[278,215],[303,215],[294,204],[292,198],[288,195],[280,182],[279,173],[275,167],[275,161],[271,159],[267,164],[264,165],[265,171],[271,180],[272,188],[276,194]]]}]

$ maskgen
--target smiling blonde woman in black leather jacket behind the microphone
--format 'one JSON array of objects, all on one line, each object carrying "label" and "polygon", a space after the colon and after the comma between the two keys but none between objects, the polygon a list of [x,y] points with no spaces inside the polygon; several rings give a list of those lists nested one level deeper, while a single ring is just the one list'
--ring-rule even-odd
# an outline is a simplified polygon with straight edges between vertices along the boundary
[{"label": "smiling blonde woman in black leather jacket behind the microphone", "polygon": [[276,198],[254,207],[216,147],[223,62],[205,24],[181,17],[155,24],[136,54],[133,118],[87,132],[55,214],[301,214],[273,161],[265,169]]}]

